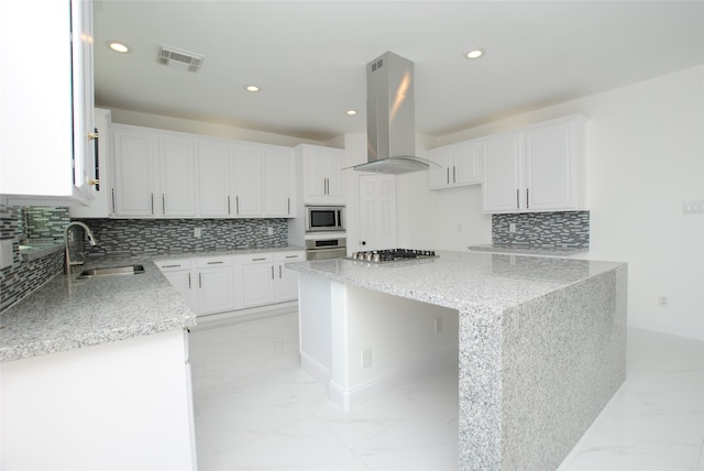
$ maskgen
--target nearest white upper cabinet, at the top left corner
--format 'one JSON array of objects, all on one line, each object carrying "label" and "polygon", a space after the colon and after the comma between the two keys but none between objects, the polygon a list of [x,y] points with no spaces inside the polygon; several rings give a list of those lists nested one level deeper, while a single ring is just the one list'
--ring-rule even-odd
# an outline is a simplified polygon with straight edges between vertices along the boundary
[{"label": "nearest white upper cabinet, at the top left corner", "polygon": [[11,205],[88,205],[91,2],[2,1],[0,41],[0,194]]}]

